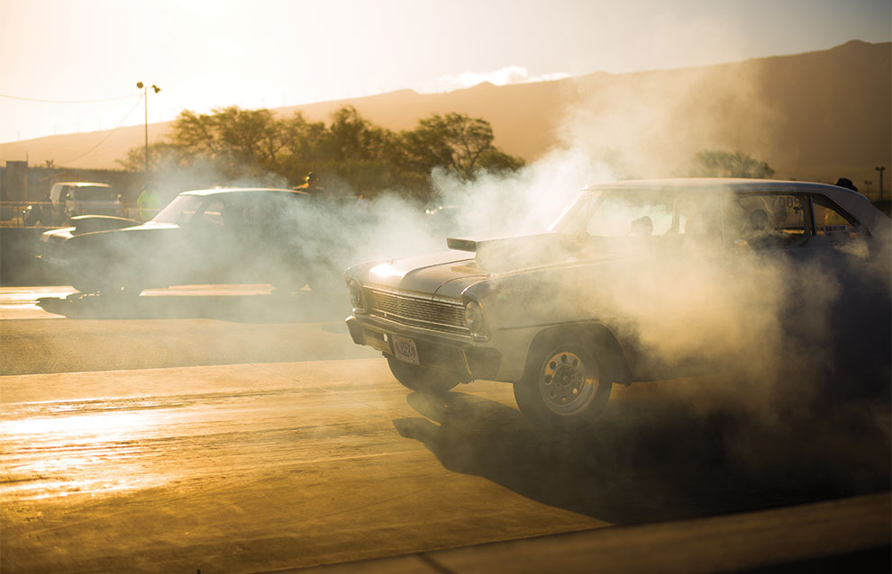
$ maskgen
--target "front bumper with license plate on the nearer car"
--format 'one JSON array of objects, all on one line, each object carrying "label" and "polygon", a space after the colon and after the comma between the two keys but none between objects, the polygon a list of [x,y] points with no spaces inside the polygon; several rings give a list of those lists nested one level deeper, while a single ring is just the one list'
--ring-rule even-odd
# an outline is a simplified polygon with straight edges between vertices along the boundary
[{"label": "front bumper with license plate on the nearer car", "polygon": [[351,315],[346,319],[350,337],[357,345],[368,345],[388,357],[396,357],[394,336],[412,339],[423,367],[455,372],[464,382],[476,379],[494,381],[502,354],[494,348],[474,345],[458,337],[438,336],[397,323]]}]

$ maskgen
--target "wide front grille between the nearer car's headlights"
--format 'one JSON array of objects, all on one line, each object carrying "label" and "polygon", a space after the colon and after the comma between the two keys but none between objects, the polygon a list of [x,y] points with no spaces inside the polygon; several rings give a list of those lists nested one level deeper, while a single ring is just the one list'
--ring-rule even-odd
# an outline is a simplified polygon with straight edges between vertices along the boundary
[{"label": "wide front grille between the nearer car's headlights", "polygon": [[460,303],[420,299],[389,291],[368,290],[369,314],[411,327],[469,335]]}]

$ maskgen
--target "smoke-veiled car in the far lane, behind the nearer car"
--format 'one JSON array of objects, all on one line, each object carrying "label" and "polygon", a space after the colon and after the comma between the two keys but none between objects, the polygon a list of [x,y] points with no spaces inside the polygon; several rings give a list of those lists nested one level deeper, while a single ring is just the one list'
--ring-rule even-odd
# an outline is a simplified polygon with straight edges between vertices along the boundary
[{"label": "smoke-veiled car in the far lane, behind the nearer car", "polygon": [[74,227],[42,234],[41,259],[78,291],[105,296],[184,283],[321,288],[342,266],[319,255],[308,198],[284,189],[184,192],[143,224],[75,217]]}]

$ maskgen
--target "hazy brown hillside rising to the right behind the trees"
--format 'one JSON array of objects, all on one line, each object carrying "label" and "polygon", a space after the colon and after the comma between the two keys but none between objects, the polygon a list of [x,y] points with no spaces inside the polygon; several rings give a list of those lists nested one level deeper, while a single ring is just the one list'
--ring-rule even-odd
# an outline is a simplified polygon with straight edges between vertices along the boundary
[{"label": "hazy brown hillside rising to the right behind the trees", "polygon": [[[741,150],[778,177],[863,187],[892,163],[892,44],[853,40],[794,56],[710,67],[614,75],[596,73],[522,85],[481,84],[446,94],[403,90],[278,108],[327,121],[343,105],[391,130],[434,112],[489,121],[496,145],[534,161],[555,148],[610,157],[624,176],[678,175],[700,149]],[[150,139],[169,124],[151,124]],[[119,167],[141,146],[142,126],[0,144],[0,161]],[[876,186],[876,182],[873,183]],[[888,188],[888,185],[886,186]]]}]

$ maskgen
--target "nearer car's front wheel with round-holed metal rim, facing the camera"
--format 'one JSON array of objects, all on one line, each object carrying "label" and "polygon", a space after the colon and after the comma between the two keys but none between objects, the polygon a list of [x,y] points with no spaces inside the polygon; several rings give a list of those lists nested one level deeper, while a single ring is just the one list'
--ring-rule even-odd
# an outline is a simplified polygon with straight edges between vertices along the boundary
[{"label": "nearer car's front wheel with round-holed metal rim, facing the camera", "polygon": [[527,357],[514,383],[521,412],[540,426],[588,426],[604,411],[613,382],[604,376],[602,351],[574,334],[548,336]]}]

